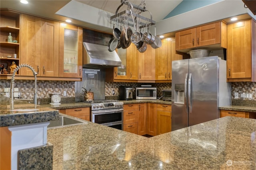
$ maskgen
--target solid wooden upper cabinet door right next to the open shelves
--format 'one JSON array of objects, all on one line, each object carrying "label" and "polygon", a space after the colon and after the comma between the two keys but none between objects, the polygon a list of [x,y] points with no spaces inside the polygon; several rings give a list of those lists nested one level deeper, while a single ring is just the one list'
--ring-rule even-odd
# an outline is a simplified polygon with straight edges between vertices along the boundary
[{"label": "solid wooden upper cabinet door right next to the open shelves", "polygon": [[[34,67],[41,76],[41,18],[21,14],[20,63]],[[20,69],[20,75],[33,76],[29,68]]]}]

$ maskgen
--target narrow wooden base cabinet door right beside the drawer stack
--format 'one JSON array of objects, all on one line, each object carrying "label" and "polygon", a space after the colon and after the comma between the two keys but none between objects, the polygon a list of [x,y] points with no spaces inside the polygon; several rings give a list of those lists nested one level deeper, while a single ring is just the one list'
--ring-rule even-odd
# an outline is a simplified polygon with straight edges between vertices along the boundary
[{"label": "narrow wooden base cabinet door right beside the drawer stack", "polygon": [[138,104],[138,135],[147,134],[147,104]]}]

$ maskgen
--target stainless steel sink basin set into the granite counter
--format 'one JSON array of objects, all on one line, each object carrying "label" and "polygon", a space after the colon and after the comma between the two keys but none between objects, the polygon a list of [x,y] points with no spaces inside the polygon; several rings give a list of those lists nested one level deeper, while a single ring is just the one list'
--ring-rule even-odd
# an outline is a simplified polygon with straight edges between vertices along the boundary
[{"label": "stainless steel sink basin set into the granite counter", "polygon": [[80,125],[84,124],[85,122],[79,121],[76,119],[72,119],[70,117],[65,117],[65,116],[60,116],[58,120],[50,121],[50,124],[48,125],[47,128],[51,127],[66,127],[70,125]]}]

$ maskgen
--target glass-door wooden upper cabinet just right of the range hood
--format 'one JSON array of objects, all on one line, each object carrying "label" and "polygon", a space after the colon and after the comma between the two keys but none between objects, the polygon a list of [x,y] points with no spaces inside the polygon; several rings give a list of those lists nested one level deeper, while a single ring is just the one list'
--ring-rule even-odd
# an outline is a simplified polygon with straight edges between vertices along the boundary
[{"label": "glass-door wooden upper cabinet just right of the range hood", "polygon": [[[131,44],[127,49],[117,49],[122,61],[121,67],[106,68],[107,82],[137,82],[138,80],[138,50]],[[134,81],[135,80],[135,81]]]}]

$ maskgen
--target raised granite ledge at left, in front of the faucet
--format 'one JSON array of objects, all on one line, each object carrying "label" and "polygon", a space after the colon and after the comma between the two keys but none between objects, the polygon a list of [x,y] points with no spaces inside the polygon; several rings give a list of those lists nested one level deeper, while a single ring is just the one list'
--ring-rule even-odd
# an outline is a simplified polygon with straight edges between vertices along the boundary
[{"label": "raised granite ledge at left, in front of the faucet", "polygon": [[28,102],[14,102],[14,109],[10,104],[0,105],[0,127],[39,123],[59,119],[59,111]]}]

